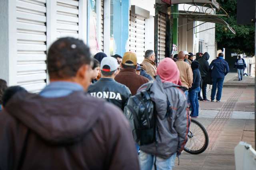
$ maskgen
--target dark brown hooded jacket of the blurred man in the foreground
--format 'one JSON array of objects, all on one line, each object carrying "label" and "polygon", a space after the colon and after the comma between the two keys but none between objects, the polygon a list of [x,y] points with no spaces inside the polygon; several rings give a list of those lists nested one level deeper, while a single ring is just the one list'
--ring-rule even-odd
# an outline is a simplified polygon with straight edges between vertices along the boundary
[{"label": "dark brown hooded jacket of the blurred man in the foreground", "polygon": [[74,92],[17,93],[0,113],[1,170],[131,170],[138,154],[122,111]]}]

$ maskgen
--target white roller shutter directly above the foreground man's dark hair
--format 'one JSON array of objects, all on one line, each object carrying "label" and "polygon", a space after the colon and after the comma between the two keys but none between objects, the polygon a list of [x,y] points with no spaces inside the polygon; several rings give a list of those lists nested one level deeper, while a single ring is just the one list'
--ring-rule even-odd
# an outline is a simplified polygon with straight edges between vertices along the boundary
[{"label": "white roller shutter directly above the foreground man's dark hair", "polygon": [[78,38],[78,0],[57,0],[57,38]]}]

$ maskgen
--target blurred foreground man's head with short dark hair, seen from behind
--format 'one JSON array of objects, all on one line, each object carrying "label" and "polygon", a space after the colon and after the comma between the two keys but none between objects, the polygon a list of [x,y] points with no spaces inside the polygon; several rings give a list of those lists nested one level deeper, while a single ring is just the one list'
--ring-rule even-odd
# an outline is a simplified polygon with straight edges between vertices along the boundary
[{"label": "blurred foreground man's head with short dark hair, seen from behind", "polygon": [[87,90],[91,81],[91,53],[82,40],[60,38],[49,48],[47,68],[50,81],[76,82]]}]

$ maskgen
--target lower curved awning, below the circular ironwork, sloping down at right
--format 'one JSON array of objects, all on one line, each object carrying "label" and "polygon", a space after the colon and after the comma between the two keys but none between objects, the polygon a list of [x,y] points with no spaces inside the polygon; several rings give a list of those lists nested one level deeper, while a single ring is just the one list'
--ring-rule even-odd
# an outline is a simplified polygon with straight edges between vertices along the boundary
[{"label": "lower curved awning, below the circular ironwork, sloping down at right", "polygon": [[179,13],[179,18],[187,18],[189,21],[202,21],[202,22],[212,22],[212,23],[219,23],[222,25],[226,25],[228,29],[233,33],[236,34],[236,31],[226,21],[216,15],[211,14],[202,14],[198,12],[194,12],[193,14],[188,13]]}]

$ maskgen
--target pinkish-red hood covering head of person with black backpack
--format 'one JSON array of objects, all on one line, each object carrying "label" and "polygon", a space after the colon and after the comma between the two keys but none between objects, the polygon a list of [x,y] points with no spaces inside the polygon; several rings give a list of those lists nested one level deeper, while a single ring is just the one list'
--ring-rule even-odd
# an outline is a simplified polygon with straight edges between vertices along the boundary
[{"label": "pinkish-red hood covering head of person with black backpack", "polygon": [[177,64],[170,58],[164,58],[160,61],[156,69],[156,75],[163,82],[178,84],[180,81],[180,71],[178,70]]}]

